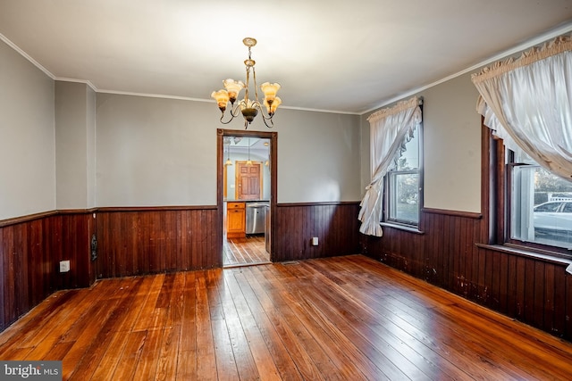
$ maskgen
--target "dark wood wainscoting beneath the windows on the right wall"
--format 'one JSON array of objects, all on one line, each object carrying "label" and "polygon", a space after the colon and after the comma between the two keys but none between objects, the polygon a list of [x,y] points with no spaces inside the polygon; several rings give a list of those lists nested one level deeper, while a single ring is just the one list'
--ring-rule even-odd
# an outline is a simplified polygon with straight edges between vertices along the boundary
[{"label": "dark wood wainscoting beneath the windows on the right wall", "polygon": [[477,245],[485,219],[425,211],[424,234],[384,227],[362,236],[363,253],[454,294],[572,341],[572,276],[566,264]]}]

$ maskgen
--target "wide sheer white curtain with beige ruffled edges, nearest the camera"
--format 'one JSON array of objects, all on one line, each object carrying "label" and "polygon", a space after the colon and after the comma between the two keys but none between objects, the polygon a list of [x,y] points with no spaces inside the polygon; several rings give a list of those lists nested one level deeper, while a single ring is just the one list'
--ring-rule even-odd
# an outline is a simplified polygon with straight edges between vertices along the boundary
[{"label": "wide sheer white curtain with beige ruffled edges, nearest the camera", "polygon": [[572,179],[572,41],[559,37],[472,77],[484,124],[513,151]]}]

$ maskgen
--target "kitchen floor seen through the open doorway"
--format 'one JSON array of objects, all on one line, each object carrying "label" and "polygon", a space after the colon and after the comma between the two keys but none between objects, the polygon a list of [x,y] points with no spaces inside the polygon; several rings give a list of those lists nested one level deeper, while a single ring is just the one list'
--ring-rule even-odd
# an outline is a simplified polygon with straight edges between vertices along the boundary
[{"label": "kitchen floor seen through the open doorway", "polygon": [[269,262],[270,254],[266,252],[264,236],[229,238],[223,244],[223,267],[225,268]]}]

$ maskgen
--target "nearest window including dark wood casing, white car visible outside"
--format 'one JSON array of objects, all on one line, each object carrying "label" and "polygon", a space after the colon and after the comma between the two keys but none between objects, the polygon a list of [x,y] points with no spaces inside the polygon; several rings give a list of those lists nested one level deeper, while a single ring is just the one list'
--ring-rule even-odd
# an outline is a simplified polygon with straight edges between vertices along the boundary
[{"label": "nearest window including dark wood casing, white car visible outside", "polygon": [[[490,244],[515,244],[569,257],[572,249],[572,182],[544,170],[525,153],[515,153],[488,131],[484,169],[492,169]],[[485,193],[486,194],[486,193]]]}]

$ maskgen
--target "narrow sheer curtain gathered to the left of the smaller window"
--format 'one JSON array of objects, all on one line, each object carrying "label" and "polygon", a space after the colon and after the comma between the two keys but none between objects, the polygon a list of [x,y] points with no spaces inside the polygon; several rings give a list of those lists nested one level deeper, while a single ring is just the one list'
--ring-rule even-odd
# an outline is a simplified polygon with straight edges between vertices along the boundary
[{"label": "narrow sheer curtain gathered to the left of the smaller window", "polygon": [[393,107],[374,112],[367,120],[370,125],[370,159],[372,181],[360,203],[359,231],[369,236],[383,236],[382,197],[383,177],[395,166],[396,155],[404,149],[416,126],[421,123],[421,99],[413,97]]}]

